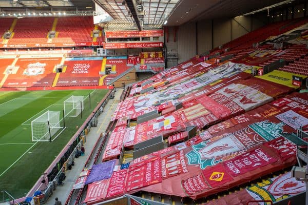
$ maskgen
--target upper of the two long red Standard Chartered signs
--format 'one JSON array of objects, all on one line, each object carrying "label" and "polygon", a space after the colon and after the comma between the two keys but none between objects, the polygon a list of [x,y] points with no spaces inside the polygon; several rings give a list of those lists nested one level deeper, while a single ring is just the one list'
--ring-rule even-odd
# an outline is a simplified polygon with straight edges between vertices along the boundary
[{"label": "upper of the two long red Standard Chartered signs", "polygon": [[164,36],[164,30],[106,31],[105,35],[106,35],[106,38]]}]

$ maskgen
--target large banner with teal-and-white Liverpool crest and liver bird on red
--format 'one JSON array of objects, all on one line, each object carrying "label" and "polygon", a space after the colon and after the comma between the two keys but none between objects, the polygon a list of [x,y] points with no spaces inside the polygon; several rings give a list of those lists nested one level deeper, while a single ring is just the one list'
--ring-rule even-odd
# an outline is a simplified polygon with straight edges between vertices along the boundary
[{"label": "large banner with teal-and-white Liverpool crest and liver bird on red", "polygon": [[218,161],[229,159],[228,155],[230,154],[237,155],[279,137],[283,126],[283,122],[276,124],[270,121],[261,121],[219,139],[203,141],[198,145],[191,146],[192,150],[186,154],[188,164],[200,164],[201,169],[213,166]]}]

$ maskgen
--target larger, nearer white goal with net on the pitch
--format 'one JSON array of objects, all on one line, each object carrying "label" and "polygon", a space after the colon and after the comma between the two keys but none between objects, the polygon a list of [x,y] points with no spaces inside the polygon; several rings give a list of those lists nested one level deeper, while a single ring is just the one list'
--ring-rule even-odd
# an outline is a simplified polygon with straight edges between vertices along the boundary
[{"label": "larger, nearer white goal with net on the pitch", "polygon": [[[31,121],[32,141],[52,141],[63,131],[59,111],[46,111]],[[60,129],[62,130],[60,132]],[[56,135],[56,136],[55,136]]]}]

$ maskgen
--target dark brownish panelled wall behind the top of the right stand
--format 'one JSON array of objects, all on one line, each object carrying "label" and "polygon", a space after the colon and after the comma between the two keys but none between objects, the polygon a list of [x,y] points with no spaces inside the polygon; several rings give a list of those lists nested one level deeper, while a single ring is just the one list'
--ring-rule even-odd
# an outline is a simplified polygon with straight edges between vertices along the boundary
[{"label": "dark brownish panelled wall behind the top of the right stand", "polygon": [[[165,37],[165,45],[167,52],[178,53],[178,63],[182,63],[191,56],[216,48],[266,23],[267,17],[263,14],[189,22],[179,26],[178,29],[168,27],[168,42]],[[174,32],[177,32],[176,35]],[[167,67],[169,67],[168,62]]]}]

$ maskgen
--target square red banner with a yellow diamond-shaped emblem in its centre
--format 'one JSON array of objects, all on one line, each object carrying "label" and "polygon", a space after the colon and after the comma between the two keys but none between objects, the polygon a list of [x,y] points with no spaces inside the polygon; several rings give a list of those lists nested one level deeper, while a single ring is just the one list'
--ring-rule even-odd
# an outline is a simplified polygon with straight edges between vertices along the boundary
[{"label": "square red banner with a yellow diamond-shaped emblem in its centre", "polygon": [[224,183],[233,180],[232,176],[227,173],[222,163],[219,163],[213,167],[208,167],[207,169],[203,170],[202,173],[205,177],[205,180],[212,188],[219,187]]}]

